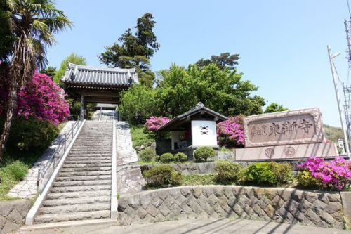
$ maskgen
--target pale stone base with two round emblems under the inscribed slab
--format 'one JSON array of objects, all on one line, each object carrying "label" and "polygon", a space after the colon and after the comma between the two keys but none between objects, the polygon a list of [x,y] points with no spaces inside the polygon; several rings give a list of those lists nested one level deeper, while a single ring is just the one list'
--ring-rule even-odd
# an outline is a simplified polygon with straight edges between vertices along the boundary
[{"label": "pale stone base with two round emblems under the inscribed slab", "polygon": [[336,157],[334,143],[309,143],[242,148],[235,151],[235,161],[298,160],[308,157]]}]

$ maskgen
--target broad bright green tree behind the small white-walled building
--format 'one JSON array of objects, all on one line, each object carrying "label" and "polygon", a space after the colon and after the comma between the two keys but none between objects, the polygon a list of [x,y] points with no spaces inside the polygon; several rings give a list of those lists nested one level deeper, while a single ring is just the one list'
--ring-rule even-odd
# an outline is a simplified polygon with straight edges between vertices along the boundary
[{"label": "broad bright green tree behind the small white-walled building", "polygon": [[262,113],[265,100],[251,96],[258,89],[242,80],[242,73],[221,70],[216,64],[202,68],[189,65],[186,69],[172,65],[160,72],[157,98],[162,113],[173,116],[190,110],[198,102],[223,115],[253,115]]}]

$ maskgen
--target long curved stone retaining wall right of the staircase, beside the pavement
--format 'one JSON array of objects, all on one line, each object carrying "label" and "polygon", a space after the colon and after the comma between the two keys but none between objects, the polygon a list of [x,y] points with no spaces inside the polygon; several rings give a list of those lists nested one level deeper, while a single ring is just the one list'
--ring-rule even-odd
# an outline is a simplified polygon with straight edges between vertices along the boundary
[{"label": "long curved stone retaining wall right of the staircase, beside the pavement", "polygon": [[314,193],[292,188],[165,188],[129,197],[122,196],[119,199],[118,210],[119,222],[123,225],[176,219],[233,217],[331,228],[344,226],[340,193]]}]

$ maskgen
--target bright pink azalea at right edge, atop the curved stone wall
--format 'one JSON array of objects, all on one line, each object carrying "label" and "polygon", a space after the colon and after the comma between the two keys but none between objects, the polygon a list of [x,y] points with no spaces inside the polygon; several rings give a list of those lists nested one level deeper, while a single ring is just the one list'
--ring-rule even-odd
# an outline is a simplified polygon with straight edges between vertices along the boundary
[{"label": "bright pink azalea at right edge, atop the curved stone wall", "polygon": [[335,160],[324,161],[319,157],[310,157],[298,166],[303,171],[310,171],[311,176],[321,183],[324,188],[343,190],[350,186],[351,162],[342,157]]}]

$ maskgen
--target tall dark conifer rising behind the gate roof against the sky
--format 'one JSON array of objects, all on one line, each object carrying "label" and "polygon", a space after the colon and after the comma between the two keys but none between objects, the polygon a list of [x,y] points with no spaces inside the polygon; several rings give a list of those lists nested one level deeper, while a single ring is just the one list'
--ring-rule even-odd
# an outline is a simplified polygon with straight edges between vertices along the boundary
[{"label": "tall dark conifer rising behind the gate roof against the sky", "polygon": [[151,13],[145,13],[138,18],[135,33],[128,28],[119,37],[120,44],[105,46],[106,51],[99,56],[101,63],[110,67],[136,67],[140,83],[151,87],[154,83],[154,73],[150,70],[150,58],[159,49],[157,37],[153,32],[155,23]]}]

